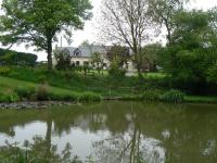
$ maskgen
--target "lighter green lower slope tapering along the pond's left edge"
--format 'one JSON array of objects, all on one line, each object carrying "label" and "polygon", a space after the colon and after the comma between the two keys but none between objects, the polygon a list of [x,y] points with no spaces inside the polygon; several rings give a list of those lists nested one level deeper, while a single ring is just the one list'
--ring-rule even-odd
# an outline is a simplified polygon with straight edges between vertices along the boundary
[{"label": "lighter green lower slope tapering along the pond's left edge", "polygon": [[77,92],[47,84],[35,84],[0,76],[0,102],[17,101],[100,101],[101,96],[93,92]]}]

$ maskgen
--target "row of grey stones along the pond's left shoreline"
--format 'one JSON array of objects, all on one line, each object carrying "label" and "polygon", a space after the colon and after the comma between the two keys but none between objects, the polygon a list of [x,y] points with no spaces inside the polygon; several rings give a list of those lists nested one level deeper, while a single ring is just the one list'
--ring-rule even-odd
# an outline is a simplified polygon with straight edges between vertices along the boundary
[{"label": "row of grey stones along the pond's left shoreline", "polygon": [[15,103],[0,103],[0,110],[2,109],[46,109],[52,105],[74,105],[73,102],[63,101],[37,101],[37,102],[15,102]]}]

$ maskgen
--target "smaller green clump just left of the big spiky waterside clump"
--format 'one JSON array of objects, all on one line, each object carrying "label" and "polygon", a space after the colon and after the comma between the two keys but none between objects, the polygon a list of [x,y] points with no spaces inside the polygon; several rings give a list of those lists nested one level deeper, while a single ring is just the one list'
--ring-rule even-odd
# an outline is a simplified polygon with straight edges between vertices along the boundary
[{"label": "smaller green clump just left of the big spiky waterside clump", "polygon": [[157,101],[159,100],[159,96],[161,96],[161,91],[157,89],[150,89],[150,90],[145,90],[142,93],[142,100],[145,101]]}]

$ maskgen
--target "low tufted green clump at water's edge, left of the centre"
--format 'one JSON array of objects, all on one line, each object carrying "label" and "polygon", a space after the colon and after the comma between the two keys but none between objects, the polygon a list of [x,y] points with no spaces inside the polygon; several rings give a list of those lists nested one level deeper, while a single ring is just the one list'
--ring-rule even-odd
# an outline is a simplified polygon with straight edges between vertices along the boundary
[{"label": "low tufted green clump at water's edge, left of the centre", "polygon": [[101,101],[102,97],[93,92],[84,92],[79,96],[79,101],[82,102],[95,102]]}]

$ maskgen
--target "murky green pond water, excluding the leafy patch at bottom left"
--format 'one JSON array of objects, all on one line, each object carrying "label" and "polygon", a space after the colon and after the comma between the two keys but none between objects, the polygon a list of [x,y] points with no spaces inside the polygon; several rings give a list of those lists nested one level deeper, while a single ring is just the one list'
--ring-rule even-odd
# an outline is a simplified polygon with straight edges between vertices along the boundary
[{"label": "murky green pond water, excluding the leafy patch at bottom left", "polygon": [[[41,146],[37,146],[37,138]],[[0,110],[0,147],[25,140],[97,163],[215,163],[217,105],[102,102]]]}]

